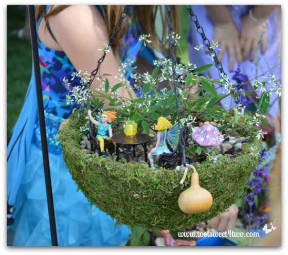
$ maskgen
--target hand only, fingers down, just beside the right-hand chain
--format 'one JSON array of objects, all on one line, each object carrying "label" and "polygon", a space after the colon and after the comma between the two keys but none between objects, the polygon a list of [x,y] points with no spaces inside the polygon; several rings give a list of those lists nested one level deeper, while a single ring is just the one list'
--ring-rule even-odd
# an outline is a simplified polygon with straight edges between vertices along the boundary
[{"label": "hand only, fingers down, just beside the right-hand chain", "polygon": [[213,41],[214,43],[218,42],[220,45],[220,51],[217,56],[220,62],[227,50],[229,56],[229,70],[233,69],[235,61],[238,63],[242,61],[239,33],[232,21],[214,24]]}]

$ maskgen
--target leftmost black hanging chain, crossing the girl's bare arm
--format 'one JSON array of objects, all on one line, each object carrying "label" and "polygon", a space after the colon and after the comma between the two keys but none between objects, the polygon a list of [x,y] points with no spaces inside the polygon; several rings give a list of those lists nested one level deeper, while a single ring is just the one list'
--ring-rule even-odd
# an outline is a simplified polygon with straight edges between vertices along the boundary
[{"label": "leftmost black hanging chain, crossing the girl's bare arm", "polygon": [[94,81],[94,79],[95,79],[95,77],[96,77],[96,75],[98,73],[98,70],[100,68],[100,65],[101,65],[101,63],[103,62],[103,60],[106,57],[106,53],[107,53],[106,49],[109,49],[109,47],[114,43],[116,34],[121,30],[122,21],[127,16],[127,10],[128,10],[128,6],[126,5],[124,7],[123,11],[120,14],[118,23],[115,25],[114,32],[113,32],[113,34],[110,37],[110,40],[109,40],[109,43],[108,43],[107,47],[103,50],[102,57],[97,62],[96,69],[91,72],[90,79],[89,79],[89,82],[87,84],[88,86],[90,86],[93,83],[93,81]]}]

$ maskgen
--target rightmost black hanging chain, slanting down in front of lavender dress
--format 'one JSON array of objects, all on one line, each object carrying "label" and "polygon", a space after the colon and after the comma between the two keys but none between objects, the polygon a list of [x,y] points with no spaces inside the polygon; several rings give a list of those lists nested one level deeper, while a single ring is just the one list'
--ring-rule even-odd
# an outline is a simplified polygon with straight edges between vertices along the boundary
[{"label": "rightmost black hanging chain, slanting down in front of lavender dress", "polygon": [[207,47],[207,49],[209,49],[209,55],[214,60],[216,68],[220,71],[220,74],[222,75],[221,78],[226,78],[227,75],[225,74],[225,71],[222,67],[222,64],[221,64],[221,62],[219,62],[219,60],[217,58],[217,54],[214,51],[214,49],[210,47],[211,46],[210,41],[209,41],[209,39],[207,39],[207,37],[204,33],[204,30],[203,30],[203,27],[200,26],[198,19],[197,19],[197,16],[194,14],[194,12],[192,11],[190,6],[189,7],[184,6],[184,7],[188,10],[188,12],[190,14],[190,20],[195,24],[195,26],[197,28],[197,33],[199,33],[201,35],[202,40],[203,40],[203,44]]}]

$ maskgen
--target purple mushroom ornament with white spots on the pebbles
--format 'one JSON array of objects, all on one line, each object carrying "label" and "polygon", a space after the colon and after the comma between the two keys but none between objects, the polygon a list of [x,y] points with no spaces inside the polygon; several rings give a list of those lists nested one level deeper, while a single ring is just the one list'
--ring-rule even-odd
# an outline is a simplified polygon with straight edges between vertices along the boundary
[{"label": "purple mushroom ornament with white spots on the pebbles", "polygon": [[194,128],[192,138],[200,146],[205,147],[215,147],[224,141],[224,137],[218,128],[210,123],[205,123],[203,126]]}]

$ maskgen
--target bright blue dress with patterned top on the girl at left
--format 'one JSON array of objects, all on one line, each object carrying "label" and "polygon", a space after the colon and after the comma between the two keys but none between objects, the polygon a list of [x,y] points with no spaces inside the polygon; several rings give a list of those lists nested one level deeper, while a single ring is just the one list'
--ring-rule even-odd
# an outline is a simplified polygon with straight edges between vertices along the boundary
[{"label": "bright blue dress with patterned top on the girl at left", "polygon": [[[142,42],[132,37],[131,29],[125,39],[130,50],[123,57],[136,59]],[[71,77],[76,70],[65,52],[48,48],[39,38],[38,51],[58,245],[122,245],[129,239],[130,228],[117,227],[116,220],[90,205],[77,189],[61,146],[54,139],[59,125],[73,110],[66,104],[68,90],[63,78]],[[14,246],[51,246],[34,79],[32,71],[25,102],[7,147],[7,202],[14,207],[14,223],[10,226],[15,233]],[[73,86],[75,81],[70,83]]]}]

